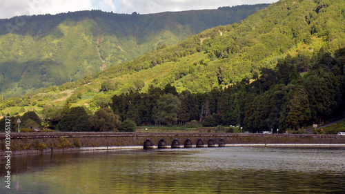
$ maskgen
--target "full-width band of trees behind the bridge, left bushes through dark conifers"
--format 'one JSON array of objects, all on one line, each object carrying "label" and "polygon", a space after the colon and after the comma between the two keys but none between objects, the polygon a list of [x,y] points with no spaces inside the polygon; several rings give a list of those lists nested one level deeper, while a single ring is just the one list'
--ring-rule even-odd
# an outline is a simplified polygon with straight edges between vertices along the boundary
[{"label": "full-width band of trees behind the bridge, left bushes through dark conifers", "polygon": [[[243,126],[252,133],[270,128],[280,128],[282,133],[303,133],[311,124],[322,124],[344,114],[345,48],[333,55],[320,50],[311,58],[288,55],[275,68],[263,68],[252,79],[213,88],[208,93],[177,93],[170,84],[163,89],[151,85],[148,93],[130,90],[114,95],[100,107],[93,114],[83,106],[71,108],[66,101],[59,108],[43,109],[42,119],[26,116],[35,115],[32,111],[21,119],[30,118],[27,128],[41,128],[44,124],[61,131],[132,131],[135,126],[195,122],[203,126]],[[17,121],[17,117],[13,116],[12,121]]]}]

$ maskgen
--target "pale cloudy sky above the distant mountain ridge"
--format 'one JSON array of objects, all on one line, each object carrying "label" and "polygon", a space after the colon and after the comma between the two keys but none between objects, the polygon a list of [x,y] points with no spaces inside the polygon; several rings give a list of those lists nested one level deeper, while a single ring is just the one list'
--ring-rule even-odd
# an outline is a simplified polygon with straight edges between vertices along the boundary
[{"label": "pale cloudy sky above the distant mountain ridge", "polygon": [[57,14],[80,10],[139,14],[217,9],[223,6],[274,3],[277,0],[0,0],[0,19],[21,15]]}]

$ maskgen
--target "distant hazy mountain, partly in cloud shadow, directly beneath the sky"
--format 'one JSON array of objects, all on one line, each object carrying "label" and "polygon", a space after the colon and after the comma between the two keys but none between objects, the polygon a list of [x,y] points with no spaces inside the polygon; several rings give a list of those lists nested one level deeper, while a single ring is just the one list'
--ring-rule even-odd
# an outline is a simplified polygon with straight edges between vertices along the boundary
[{"label": "distant hazy mountain, partly in cloud shadow, directly beneath the sky", "polygon": [[239,22],[267,6],[158,14],[92,10],[1,19],[0,93],[14,97],[75,81],[202,30]]}]

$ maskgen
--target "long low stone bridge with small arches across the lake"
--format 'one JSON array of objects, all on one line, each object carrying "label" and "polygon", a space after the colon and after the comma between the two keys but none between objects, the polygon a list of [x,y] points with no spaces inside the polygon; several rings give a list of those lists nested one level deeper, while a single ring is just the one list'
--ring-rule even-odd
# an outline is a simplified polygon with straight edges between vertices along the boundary
[{"label": "long low stone bridge with small arches across the lake", "polygon": [[0,133],[1,155],[12,152],[72,151],[117,148],[191,148],[215,146],[345,146],[345,135],[244,133]]}]

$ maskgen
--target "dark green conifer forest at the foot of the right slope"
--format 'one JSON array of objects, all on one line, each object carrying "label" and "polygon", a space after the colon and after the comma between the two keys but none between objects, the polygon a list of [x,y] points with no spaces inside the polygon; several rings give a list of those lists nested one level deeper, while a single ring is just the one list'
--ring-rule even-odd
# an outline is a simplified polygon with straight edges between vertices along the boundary
[{"label": "dark green conifer forest at the foot of the right slope", "polygon": [[[242,79],[239,84],[214,88],[209,93],[177,94],[170,85],[164,90],[151,87],[148,93],[115,95],[111,106],[122,118],[135,120],[138,125],[198,120],[204,126],[240,124],[252,132],[298,130],[344,111],[345,48],[337,50],[334,57],[320,52],[310,59],[313,66],[304,77],[297,72],[299,58],[288,55],[273,70],[262,69],[252,83]],[[183,106],[177,106],[173,97]]]}]

